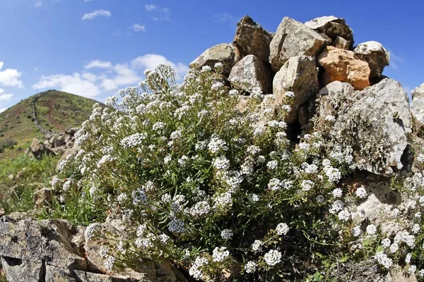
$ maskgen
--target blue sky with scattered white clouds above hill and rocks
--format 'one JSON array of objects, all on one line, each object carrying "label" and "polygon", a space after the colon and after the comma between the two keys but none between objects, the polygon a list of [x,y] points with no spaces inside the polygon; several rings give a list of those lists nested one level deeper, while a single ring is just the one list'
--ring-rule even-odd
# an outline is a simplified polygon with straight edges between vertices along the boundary
[{"label": "blue sky with scattered white clouds above hill and rocks", "polygon": [[0,111],[37,90],[103,101],[157,63],[182,76],[202,51],[231,42],[247,14],[271,32],[284,16],[345,18],[355,44],[389,49],[384,74],[410,92],[424,82],[423,8],[418,0],[0,0]]}]

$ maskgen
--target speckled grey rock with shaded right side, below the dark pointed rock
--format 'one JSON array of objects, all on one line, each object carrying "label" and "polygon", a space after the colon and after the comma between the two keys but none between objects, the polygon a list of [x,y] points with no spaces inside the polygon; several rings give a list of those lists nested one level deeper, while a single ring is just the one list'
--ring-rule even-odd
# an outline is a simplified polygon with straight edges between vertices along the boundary
[{"label": "speckled grey rock with shaded right side, below the dark pointed rock", "polygon": [[259,88],[262,93],[271,93],[272,80],[264,61],[254,55],[247,55],[238,61],[231,70],[228,80],[247,92]]}]

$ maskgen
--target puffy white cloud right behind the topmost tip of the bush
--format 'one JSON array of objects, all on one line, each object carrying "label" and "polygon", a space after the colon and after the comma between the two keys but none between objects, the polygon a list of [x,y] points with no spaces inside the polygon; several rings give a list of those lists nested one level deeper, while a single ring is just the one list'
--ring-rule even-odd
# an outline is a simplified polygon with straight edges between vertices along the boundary
[{"label": "puffy white cloud right behind the topmost tip of the bush", "polygon": [[174,68],[177,75],[177,80],[182,80],[184,75],[189,71],[189,67],[184,65],[184,63],[174,63],[165,58],[165,56],[158,54],[146,54],[144,56],[139,56],[138,58],[131,61],[131,66],[133,68],[140,68],[143,71],[152,70],[158,66],[160,63],[165,63]]}]

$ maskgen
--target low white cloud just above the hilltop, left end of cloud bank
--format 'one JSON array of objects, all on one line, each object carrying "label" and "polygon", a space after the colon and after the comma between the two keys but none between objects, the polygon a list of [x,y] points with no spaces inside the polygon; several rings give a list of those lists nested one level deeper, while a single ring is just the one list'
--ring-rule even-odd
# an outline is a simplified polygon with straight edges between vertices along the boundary
[{"label": "low white cloud just above the hilltop, left end of cloud bank", "polygon": [[79,73],[73,75],[43,75],[41,80],[33,85],[33,89],[59,88],[64,92],[94,97],[100,94],[97,85],[81,77]]}]

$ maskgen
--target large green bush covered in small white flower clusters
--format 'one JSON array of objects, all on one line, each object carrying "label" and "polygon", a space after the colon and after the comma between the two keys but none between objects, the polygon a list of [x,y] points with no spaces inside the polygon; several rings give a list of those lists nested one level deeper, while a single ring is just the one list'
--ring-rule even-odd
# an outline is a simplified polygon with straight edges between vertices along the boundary
[{"label": "large green bush covered in small white flower clusters", "polygon": [[294,147],[283,122],[290,106],[274,116],[254,92],[237,111],[239,92],[220,80],[221,68],[192,69],[178,85],[160,65],[121,90],[121,102],[95,105],[78,131],[81,151],[61,164],[77,171],[54,183],[63,202],[80,191],[138,226],[131,240],[102,250],[107,268],[165,257],[204,281],[320,281],[334,278],[335,262],[389,269],[417,244],[414,232],[382,240],[353,218],[349,207],[368,192],[340,185],[355,165],[350,147],[326,137],[329,124]]}]

